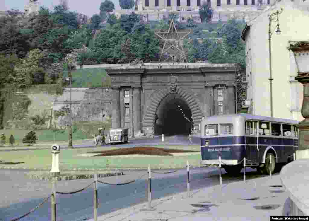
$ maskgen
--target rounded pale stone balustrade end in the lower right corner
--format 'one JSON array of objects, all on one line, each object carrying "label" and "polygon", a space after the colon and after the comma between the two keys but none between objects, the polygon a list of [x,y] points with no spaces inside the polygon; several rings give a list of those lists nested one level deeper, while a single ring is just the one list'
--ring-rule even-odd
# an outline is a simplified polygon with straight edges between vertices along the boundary
[{"label": "rounded pale stone balustrade end in the lower right corner", "polygon": [[309,159],[295,160],[281,169],[282,185],[286,188],[289,198],[286,205],[290,208],[283,210],[283,215],[309,215]]}]

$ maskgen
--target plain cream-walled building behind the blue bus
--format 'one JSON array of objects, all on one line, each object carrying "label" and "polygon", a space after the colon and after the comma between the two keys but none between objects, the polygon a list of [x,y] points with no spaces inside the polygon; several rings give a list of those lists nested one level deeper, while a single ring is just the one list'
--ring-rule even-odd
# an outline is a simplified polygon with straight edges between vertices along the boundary
[{"label": "plain cream-walled building behind the blue bus", "polygon": [[[273,117],[303,120],[300,113],[303,85],[294,80],[297,74],[294,55],[287,49],[291,42],[309,40],[309,2],[281,0],[256,19],[247,23],[242,39],[246,42],[246,74],[248,80],[248,112],[271,116],[269,84],[269,15],[279,15],[281,34],[271,36]],[[274,31],[277,22],[272,21]]]}]

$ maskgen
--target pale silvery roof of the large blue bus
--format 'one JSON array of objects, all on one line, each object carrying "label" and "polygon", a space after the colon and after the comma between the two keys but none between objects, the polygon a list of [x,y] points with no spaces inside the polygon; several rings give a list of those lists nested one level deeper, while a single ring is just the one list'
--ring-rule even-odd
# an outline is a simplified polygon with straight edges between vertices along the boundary
[{"label": "pale silvery roof of the large blue bus", "polygon": [[207,120],[207,119],[214,120],[216,118],[227,120],[228,118],[240,118],[240,117],[244,117],[246,120],[272,121],[272,122],[286,123],[286,124],[298,124],[299,123],[299,121],[290,120],[290,119],[251,115],[251,114],[246,114],[246,113],[215,115],[211,117],[206,117],[204,120]]}]

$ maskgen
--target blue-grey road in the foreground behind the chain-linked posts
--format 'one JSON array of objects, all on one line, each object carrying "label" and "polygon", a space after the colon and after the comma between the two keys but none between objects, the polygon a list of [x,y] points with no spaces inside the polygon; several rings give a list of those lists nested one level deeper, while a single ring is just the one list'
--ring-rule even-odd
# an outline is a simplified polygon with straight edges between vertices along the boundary
[{"label": "blue-grey road in the foreground behind the chain-linked posts", "polygon": [[[215,168],[192,168],[190,170],[191,190],[217,185],[218,176],[210,176],[209,172]],[[155,170],[154,170],[155,171]],[[162,170],[156,170],[163,172]],[[167,171],[167,170],[164,170]],[[224,170],[222,170],[223,172]],[[249,171],[255,171],[248,169]],[[46,181],[35,181],[24,176],[25,171],[0,170],[0,220],[10,221],[36,207],[51,193],[51,185]],[[147,201],[147,171],[125,171],[124,176],[106,177],[99,180],[109,183],[122,183],[131,181],[142,175],[128,185],[114,186],[98,184],[99,209],[98,215],[109,213],[125,207],[133,206]],[[215,171],[216,174],[217,171]],[[223,183],[235,179],[223,180]],[[58,181],[57,191],[69,192],[89,185],[93,180]],[[171,194],[186,191],[186,170],[182,169],[170,174],[152,173],[152,198],[162,198]],[[88,188],[75,194],[57,194],[57,221],[80,221],[93,218],[93,188]],[[22,221],[50,220],[50,200],[35,212],[26,216]]]}]

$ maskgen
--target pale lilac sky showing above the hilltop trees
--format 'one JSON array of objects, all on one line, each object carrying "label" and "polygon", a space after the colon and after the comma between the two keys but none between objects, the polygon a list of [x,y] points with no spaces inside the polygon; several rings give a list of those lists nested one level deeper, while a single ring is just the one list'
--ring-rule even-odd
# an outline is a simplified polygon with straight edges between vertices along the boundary
[{"label": "pale lilac sky showing above the hilltop trees", "polygon": [[[67,0],[71,11],[77,11],[91,17],[94,14],[99,14],[99,7],[103,0]],[[119,0],[111,0],[115,4],[115,9],[120,9]],[[29,0],[0,0],[0,11],[7,11],[10,9],[19,9],[25,11],[25,5]],[[38,0],[39,7],[44,6],[53,9],[53,6],[59,4],[59,0]]]}]

